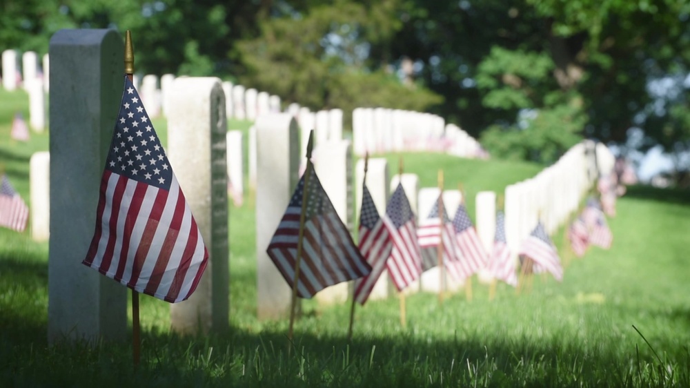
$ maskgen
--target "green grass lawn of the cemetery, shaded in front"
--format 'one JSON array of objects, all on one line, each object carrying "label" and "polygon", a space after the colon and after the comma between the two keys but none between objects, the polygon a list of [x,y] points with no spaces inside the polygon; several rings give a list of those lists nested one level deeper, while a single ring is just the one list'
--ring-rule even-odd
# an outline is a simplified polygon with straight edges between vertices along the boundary
[{"label": "green grass lawn of the cemetery, shaded in front", "polygon": [[[48,149],[48,133],[8,141],[14,112],[28,117],[22,93],[0,91],[0,163],[28,202],[29,157]],[[165,144],[165,121],[154,123]],[[240,124],[246,128],[230,126]],[[388,157],[395,173],[397,155]],[[462,180],[471,215],[476,191],[500,191],[542,168],[404,157],[422,187],[435,185],[438,168],[446,185]],[[255,318],[248,195],[243,207],[230,208],[230,330],[177,336],[169,331],[169,304],[142,296],[137,370],[129,342],[48,346],[48,243],[0,229],[0,386],[690,387],[690,197],[631,187],[609,223],[613,248],[591,248],[582,259],[566,253],[562,231],[553,236],[569,262],[562,283],[538,276],[521,295],[499,284],[491,302],[476,278],[471,301],[462,292],[442,304],[435,294],[408,295],[406,328],[397,298],[373,300],[357,307],[348,342],[349,304],[307,301],[288,354],[288,320]],[[85,253],[75,251],[75,260]]]}]

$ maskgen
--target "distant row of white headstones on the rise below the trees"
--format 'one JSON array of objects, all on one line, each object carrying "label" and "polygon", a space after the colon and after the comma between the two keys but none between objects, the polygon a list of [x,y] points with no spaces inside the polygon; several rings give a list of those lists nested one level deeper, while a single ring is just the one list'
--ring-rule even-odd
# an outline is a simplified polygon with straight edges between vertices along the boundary
[{"label": "distant row of white headstones on the rise below the trees", "polygon": [[476,139],[430,113],[386,108],[353,110],[356,155],[391,151],[437,151],[459,157],[488,157]]}]

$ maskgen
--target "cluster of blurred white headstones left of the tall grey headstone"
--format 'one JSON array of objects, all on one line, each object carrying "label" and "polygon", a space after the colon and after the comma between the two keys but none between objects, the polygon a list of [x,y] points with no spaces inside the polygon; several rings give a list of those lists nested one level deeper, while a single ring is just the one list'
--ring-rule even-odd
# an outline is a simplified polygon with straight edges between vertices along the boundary
[{"label": "cluster of blurred white headstones left of the tall grey headstone", "polygon": [[2,52],[2,85],[12,91],[23,88],[29,95],[29,126],[36,132],[46,129],[46,93],[48,93],[48,54],[43,55],[43,68],[39,66],[36,52],[27,51],[21,55],[17,50]]}]

